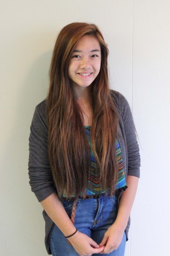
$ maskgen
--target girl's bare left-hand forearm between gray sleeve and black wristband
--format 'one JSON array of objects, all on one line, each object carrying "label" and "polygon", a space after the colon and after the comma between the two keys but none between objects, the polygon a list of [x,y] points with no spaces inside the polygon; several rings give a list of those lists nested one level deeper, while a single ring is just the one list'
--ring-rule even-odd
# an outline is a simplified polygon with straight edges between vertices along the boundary
[{"label": "girl's bare left-hand forearm between gray sleeve and black wristband", "polygon": [[41,205],[64,236],[69,236],[75,232],[75,226],[69,219],[56,193],[52,193],[45,200],[41,201]]}]

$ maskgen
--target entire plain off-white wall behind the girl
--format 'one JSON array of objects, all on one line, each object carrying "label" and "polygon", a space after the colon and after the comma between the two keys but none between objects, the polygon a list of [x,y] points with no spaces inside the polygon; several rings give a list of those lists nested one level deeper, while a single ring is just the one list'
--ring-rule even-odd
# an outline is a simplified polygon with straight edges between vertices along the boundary
[{"label": "entire plain off-white wall behind the girl", "polygon": [[110,49],[112,88],[132,106],[141,179],[126,256],[168,256],[170,2],[168,0],[1,1],[0,256],[45,256],[41,206],[27,175],[35,106],[45,98],[56,34],[96,23]]}]

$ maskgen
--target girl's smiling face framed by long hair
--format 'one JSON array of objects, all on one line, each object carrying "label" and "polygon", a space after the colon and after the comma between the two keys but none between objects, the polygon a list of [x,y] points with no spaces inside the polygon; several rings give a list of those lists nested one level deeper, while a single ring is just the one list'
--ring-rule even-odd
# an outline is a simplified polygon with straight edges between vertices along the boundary
[{"label": "girl's smiling face framed by long hair", "polygon": [[76,44],[68,74],[75,88],[88,87],[95,80],[101,67],[101,47],[92,35],[83,36]]}]

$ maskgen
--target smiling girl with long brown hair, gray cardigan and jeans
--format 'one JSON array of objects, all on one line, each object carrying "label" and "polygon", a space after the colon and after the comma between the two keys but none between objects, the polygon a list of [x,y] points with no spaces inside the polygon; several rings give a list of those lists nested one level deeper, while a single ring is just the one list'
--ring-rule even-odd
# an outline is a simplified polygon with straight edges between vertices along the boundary
[{"label": "smiling girl with long brown hair, gray cardigan and jeans", "polygon": [[96,25],[65,26],[47,99],[34,112],[30,185],[54,256],[124,255],[140,156],[128,102],[109,88],[107,58]]}]

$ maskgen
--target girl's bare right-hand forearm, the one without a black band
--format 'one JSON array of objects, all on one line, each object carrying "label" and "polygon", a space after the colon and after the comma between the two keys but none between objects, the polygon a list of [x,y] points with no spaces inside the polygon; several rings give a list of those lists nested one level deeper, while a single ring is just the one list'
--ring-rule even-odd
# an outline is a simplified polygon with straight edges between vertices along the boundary
[{"label": "girl's bare right-hand forearm, the one without a black band", "polygon": [[134,198],[136,196],[138,180],[139,180],[138,177],[128,175],[126,180],[128,189],[123,191],[121,200],[119,202],[119,209],[118,209],[118,214],[117,214],[115,224],[117,224],[123,230],[125,230],[128,224],[128,219],[130,216],[132,205],[134,202]]}]

